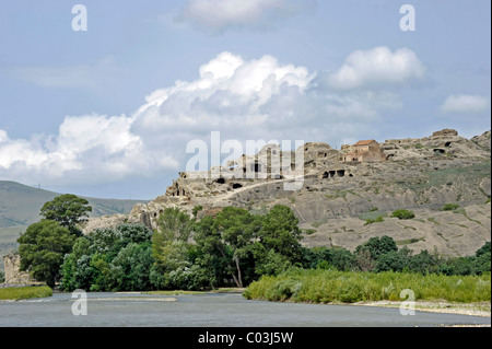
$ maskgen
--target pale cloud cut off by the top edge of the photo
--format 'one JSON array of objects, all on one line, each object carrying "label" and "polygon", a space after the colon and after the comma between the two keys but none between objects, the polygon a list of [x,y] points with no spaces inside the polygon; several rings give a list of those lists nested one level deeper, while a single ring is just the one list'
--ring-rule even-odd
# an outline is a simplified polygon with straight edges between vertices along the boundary
[{"label": "pale cloud cut off by the top edge of the photo", "polygon": [[295,0],[188,0],[181,18],[198,27],[223,32],[231,27],[265,27],[274,16],[289,18],[314,4]]}]

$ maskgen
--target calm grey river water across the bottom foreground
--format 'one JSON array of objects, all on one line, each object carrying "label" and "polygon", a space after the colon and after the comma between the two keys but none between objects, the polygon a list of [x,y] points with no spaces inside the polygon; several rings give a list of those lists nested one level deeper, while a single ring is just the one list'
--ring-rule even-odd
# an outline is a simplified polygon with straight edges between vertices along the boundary
[{"label": "calm grey river water across the bottom foreground", "polygon": [[[432,327],[491,324],[490,317],[355,305],[248,301],[241,294],[145,295],[87,293],[75,316],[71,293],[0,302],[0,327]],[[82,307],[80,307],[82,309]]]}]

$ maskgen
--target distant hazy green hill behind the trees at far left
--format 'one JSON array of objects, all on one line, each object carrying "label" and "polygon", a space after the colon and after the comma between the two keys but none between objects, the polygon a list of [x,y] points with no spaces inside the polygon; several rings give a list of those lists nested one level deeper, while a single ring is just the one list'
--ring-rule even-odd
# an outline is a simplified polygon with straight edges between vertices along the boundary
[{"label": "distant hazy green hill behind the trees at far left", "polygon": [[[16,246],[19,233],[40,220],[39,211],[46,201],[61,194],[30,187],[16,182],[0,181],[0,257]],[[91,217],[128,214],[134,205],[144,200],[117,200],[84,197],[92,207]],[[3,263],[0,260],[0,268]]]}]

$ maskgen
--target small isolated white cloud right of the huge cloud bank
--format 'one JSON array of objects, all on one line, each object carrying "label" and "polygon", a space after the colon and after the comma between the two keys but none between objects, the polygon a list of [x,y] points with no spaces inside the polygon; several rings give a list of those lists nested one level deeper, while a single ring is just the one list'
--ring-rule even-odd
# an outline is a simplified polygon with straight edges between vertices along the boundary
[{"label": "small isolated white cloud right of the huge cloud bank", "polygon": [[425,69],[417,55],[408,49],[395,53],[386,46],[356,50],[343,66],[330,74],[329,83],[340,90],[403,84],[424,77]]}]

